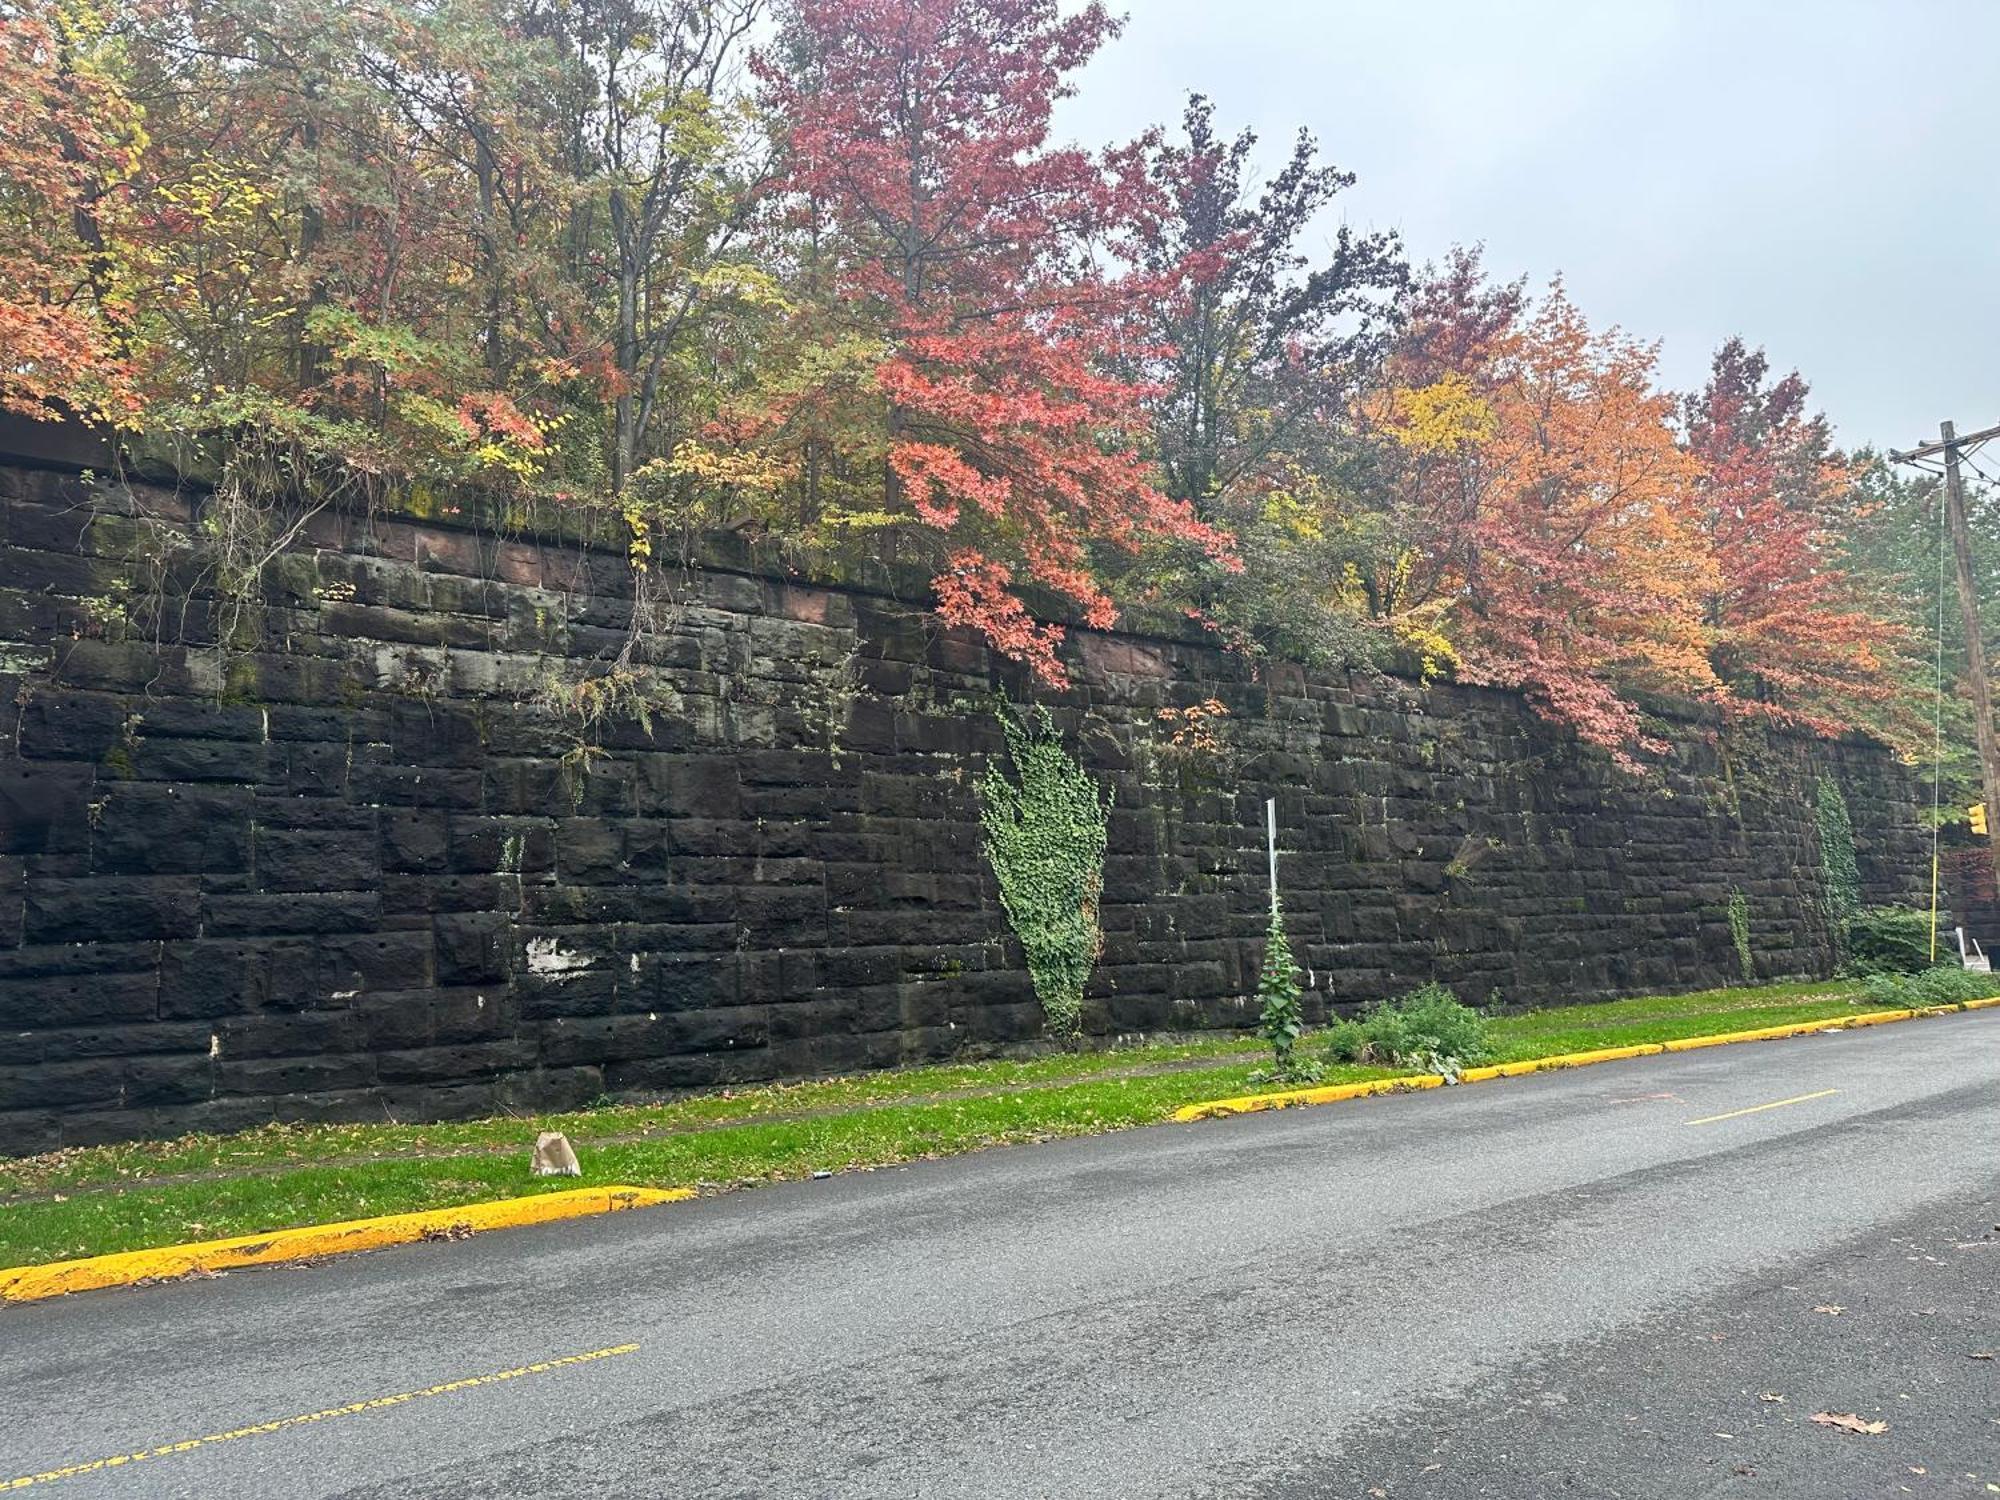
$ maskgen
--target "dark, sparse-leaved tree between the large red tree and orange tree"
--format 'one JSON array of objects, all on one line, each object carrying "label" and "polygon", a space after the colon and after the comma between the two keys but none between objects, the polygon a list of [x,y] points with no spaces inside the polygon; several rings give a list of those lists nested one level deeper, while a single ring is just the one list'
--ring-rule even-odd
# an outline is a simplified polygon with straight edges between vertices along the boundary
[{"label": "dark, sparse-leaved tree between the large red tree and orange tree", "polygon": [[[1300,130],[1256,176],[1256,136],[1222,136],[1192,96],[1150,156],[1156,206],[1138,228],[1148,302],[1142,378],[1162,486],[1240,540],[1242,570],[1198,552],[1174,580],[1230,640],[1310,660],[1366,656],[1336,590],[1358,482],[1352,408],[1388,344],[1408,268],[1394,234],[1308,236],[1354,174]],[[1204,566],[1206,564],[1206,566]]]}]

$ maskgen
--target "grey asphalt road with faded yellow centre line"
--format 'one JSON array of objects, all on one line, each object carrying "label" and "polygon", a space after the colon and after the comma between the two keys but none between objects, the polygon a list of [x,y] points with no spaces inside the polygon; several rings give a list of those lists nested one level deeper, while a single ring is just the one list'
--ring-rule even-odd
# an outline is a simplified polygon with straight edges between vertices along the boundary
[{"label": "grey asphalt road with faded yellow centre line", "polygon": [[6,1310],[0,1490],[1984,1500],[1996,1226],[1986,1012]]}]

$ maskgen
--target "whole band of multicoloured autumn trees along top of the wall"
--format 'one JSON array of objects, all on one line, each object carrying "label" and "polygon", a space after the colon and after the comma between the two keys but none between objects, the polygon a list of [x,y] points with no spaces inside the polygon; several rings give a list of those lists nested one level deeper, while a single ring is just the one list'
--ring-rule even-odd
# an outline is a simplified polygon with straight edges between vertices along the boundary
[{"label": "whole band of multicoloured autumn trees along top of the wall", "polygon": [[[1056,0],[8,0],[0,406],[662,528],[870,532],[1040,680],[1250,656],[1904,742],[1922,496],[1730,340],[1702,390],[1478,250],[1336,224],[1208,98],[1078,146]],[[1986,500],[1980,500],[1986,504]],[[636,598],[646,598],[640,578]]]}]

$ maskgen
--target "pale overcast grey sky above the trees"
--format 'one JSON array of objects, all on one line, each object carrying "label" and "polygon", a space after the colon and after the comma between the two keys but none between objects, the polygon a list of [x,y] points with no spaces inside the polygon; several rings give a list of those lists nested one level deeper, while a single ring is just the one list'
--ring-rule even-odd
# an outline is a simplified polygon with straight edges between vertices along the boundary
[{"label": "pale overcast grey sky above the trees", "polygon": [[[1110,0],[1112,10],[1120,0]],[[1358,172],[1414,258],[1562,272],[1698,384],[1732,332],[1844,444],[2000,422],[2000,0],[1124,0],[1062,128],[1128,138],[1192,88]]]}]

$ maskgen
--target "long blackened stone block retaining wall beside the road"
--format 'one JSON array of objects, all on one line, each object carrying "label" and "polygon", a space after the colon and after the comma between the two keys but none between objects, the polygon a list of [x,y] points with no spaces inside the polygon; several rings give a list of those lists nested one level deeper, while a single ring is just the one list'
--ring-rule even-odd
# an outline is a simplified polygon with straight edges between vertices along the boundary
[{"label": "long blackened stone block retaining wall beside the road", "polygon": [[[0,466],[0,1152],[1030,1046],[974,796],[1002,694],[1116,792],[1098,1040],[1254,1018],[1266,796],[1316,1020],[1428,978],[1508,1006],[1732,984],[1738,890],[1760,976],[1824,974],[1820,776],[1868,902],[1928,880],[1868,742],[1690,720],[1636,780],[1502,692],[1260,672],[1172,628],[1074,632],[1072,688],[1030,694],[888,570],[742,540],[672,576],[652,730],[586,754],[526,700],[616,650],[616,550],[326,510],[218,658],[176,644],[212,602],[134,562],[200,504]],[[1160,710],[1210,698],[1218,742],[1176,744]]]}]

